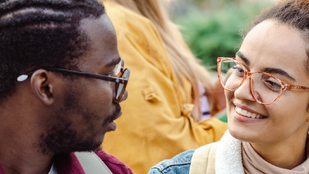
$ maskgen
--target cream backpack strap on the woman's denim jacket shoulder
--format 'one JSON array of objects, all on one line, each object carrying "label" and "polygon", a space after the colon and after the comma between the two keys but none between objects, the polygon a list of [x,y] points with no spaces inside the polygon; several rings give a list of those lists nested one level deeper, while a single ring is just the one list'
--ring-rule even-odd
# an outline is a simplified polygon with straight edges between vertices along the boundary
[{"label": "cream backpack strap on the woman's denim jacket shoulder", "polygon": [[207,144],[195,150],[191,159],[189,174],[215,174],[217,144]]}]

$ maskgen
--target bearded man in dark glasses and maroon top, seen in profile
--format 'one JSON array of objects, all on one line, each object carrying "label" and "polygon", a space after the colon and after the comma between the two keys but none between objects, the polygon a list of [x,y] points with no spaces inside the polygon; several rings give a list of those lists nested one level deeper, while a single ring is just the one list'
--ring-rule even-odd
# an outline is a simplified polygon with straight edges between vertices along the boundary
[{"label": "bearded man in dark glasses and maroon top, seen in profile", "polygon": [[130,74],[103,5],[0,0],[0,62],[0,174],[132,173],[98,148]]}]

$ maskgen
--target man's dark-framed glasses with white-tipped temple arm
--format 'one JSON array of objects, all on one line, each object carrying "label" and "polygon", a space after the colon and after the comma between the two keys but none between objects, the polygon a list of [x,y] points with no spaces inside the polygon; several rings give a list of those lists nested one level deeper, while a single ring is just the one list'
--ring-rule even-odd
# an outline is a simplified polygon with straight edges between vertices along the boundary
[{"label": "man's dark-framed glasses with white-tipped temple arm", "polygon": [[[84,77],[91,77],[95,79],[101,79],[105,81],[115,82],[116,85],[116,95],[115,100],[119,102],[121,100],[122,95],[125,93],[125,88],[127,86],[127,83],[129,81],[130,76],[130,69],[129,68],[123,68],[124,61],[121,59],[119,64],[116,65],[114,72],[114,76],[109,75],[100,75],[100,74],[93,74],[93,73],[87,73],[87,72],[81,72],[81,71],[74,71],[74,70],[66,70],[62,68],[42,68],[47,71],[53,71],[53,72],[60,72],[60,73],[67,73],[67,74],[75,74],[75,75],[81,75]],[[26,80],[29,76],[31,76],[35,71],[22,74],[17,78],[17,81],[22,82]],[[120,93],[119,93],[120,92]]]}]

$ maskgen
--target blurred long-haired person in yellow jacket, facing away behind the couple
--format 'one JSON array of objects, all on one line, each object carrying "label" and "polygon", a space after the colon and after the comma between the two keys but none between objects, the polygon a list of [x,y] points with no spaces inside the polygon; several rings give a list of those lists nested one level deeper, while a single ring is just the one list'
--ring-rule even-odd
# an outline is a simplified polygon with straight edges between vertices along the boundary
[{"label": "blurred long-haired person in yellow jacket, facing away behind the couple", "polygon": [[165,1],[103,2],[133,82],[121,104],[123,117],[116,121],[117,130],[106,135],[104,150],[135,174],[145,174],[163,159],[218,141],[226,123],[205,117],[222,108],[217,98],[224,95],[214,90],[210,74],[185,45]]}]

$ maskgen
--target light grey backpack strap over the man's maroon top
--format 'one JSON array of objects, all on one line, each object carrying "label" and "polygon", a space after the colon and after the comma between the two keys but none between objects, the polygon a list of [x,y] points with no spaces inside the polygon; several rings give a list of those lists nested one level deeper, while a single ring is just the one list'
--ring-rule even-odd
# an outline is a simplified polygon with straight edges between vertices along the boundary
[{"label": "light grey backpack strap over the man's maroon top", "polygon": [[85,174],[113,174],[94,152],[74,152]]}]

